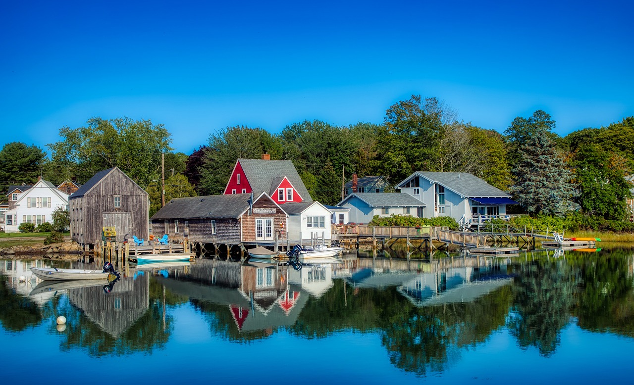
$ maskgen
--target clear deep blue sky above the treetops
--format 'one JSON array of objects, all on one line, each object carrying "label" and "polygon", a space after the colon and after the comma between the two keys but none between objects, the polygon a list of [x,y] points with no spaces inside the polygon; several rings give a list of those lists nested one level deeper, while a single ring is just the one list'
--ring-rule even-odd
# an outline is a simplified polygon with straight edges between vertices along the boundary
[{"label": "clear deep blue sky above the treetops", "polygon": [[[178,4],[178,5],[174,5]],[[3,142],[152,119],[190,154],[233,125],[383,122],[411,94],[503,132],[634,115],[632,1],[0,1]]]}]

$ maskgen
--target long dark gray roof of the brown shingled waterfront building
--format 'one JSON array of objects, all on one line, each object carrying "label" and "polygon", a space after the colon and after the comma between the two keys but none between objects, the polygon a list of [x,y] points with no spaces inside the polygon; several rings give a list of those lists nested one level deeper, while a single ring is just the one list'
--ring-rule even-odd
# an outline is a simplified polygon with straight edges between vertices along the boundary
[{"label": "long dark gray roof of the brown shingled waterfront building", "polygon": [[[151,220],[239,218],[249,208],[251,194],[229,194],[176,198],[165,204]],[[254,196],[257,199],[257,196]]]}]

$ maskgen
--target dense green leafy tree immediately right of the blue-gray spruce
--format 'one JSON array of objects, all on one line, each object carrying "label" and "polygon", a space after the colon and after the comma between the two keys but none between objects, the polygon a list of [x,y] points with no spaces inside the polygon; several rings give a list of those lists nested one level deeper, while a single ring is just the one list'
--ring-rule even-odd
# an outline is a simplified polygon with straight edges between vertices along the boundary
[{"label": "dense green leafy tree immediately right of the blue-gray spruce", "polygon": [[625,217],[630,184],[615,158],[618,155],[599,144],[583,144],[574,153],[571,165],[579,189],[576,201],[585,213],[614,220]]}]

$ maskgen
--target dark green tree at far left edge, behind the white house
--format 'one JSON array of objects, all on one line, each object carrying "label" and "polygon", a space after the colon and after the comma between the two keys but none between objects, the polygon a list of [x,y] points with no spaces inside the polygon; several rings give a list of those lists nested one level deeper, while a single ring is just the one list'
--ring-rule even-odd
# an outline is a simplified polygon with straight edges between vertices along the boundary
[{"label": "dark green tree at far left edge, behind the white house", "polygon": [[46,153],[41,148],[22,142],[4,144],[0,150],[0,200],[6,201],[6,190],[13,184],[35,183],[46,163]]}]

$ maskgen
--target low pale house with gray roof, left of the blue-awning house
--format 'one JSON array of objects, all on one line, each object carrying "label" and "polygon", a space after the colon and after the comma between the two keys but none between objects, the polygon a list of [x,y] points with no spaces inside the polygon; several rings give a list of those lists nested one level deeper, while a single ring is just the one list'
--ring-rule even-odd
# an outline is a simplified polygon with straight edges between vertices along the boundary
[{"label": "low pale house with gray roof, left of the blue-awning house", "polygon": [[353,192],[337,203],[337,206],[350,209],[350,222],[367,224],[375,215],[389,217],[399,214],[421,217],[425,203],[400,192]]}]

